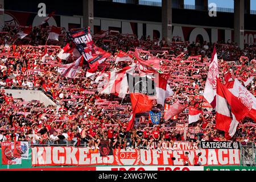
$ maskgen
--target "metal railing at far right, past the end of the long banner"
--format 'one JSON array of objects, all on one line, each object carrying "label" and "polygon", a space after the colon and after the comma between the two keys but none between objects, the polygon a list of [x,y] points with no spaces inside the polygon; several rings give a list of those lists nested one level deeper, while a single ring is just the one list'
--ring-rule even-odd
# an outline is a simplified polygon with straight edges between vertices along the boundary
[{"label": "metal railing at far right, past the end of the long banner", "polygon": [[241,157],[242,157],[242,166],[256,167],[256,147],[254,143],[251,145],[240,146],[241,147]]}]

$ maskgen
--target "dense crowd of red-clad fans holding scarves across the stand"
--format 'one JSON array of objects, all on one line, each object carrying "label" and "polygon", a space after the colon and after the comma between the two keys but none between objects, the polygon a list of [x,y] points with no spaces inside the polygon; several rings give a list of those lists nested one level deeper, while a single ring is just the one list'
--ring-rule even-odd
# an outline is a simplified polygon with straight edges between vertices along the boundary
[{"label": "dense crowd of red-clad fans holding scarves across the stand", "polygon": [[[9,29],[8,29],[9,28]],[[141,115],[137,115],[135,127],[126,132],[132,111],[129,94],[122,100],[114,94],[100,94],[98,84],[86,77],[86,68],[82,69],[76,78],[60,76],[57,68],[60,64],[67,64],[74,60],[61,61],[56,59],[61,47],[68,39],[63,38],[59,46],[45,45],[47,28],[34,28],[27,39],[15,37],[19,29],[6,27],[0,37],[0,142],[23,140],[31,144],[69,144],[73,146],[88,146],[98,148],[102,140],[109,140],[111,147],[121,148],[161,148],[167,142],[172,149],[175,141],[225,141],[224,132],[215,128],[215,114],[203,105],[203,92],[209,60],[212,56],[213,44],[207,42],[179,42],[173,40],[168,45],[166,40],[150,36],[139,39],[135,35],[98,34],[94,43],[98,47],[112,53],[100,68],[106,66],[105,72],[112,68],[125,67],[127,63],[115,64],[115,57],[119,50],[133,55],[134,48],[141,47],[148,53],[142,53],[143,59],[158,57],[161,70],[170,74],[168,84],[174,90],[174,96],[168,97],[166,104],[174,104],[177,100],[188,106],[203,110],[198,122],[188,126],[184,131],[176,129],[176,123],[188,122],[188,109],[177,118],[159,125],[140,122]],[[14,43],[15,42],[15,43]],[[256,73],[255,46],[246,45],[240,50],[234,43],[217,43],[216,49],[219,60],[220,78],[225,83],[224,76],[230,72],[241,82],[246,81]],[[46,54],[47,53],[47,54]],[[198,57],[200,55],[200,57]],[[194,57],[193,57],[194,56]],[[195,57],[197,56],[197,57]],[[246,56],[248,59],[240,59]],[[96,75],[97,76],[97,75]],[[256,80],[247,85],[247,89],[256,96]],[[5,89],[41,89],[51,97],[56,105],[45,106],[39,101],[24,101],[13,98]],[[117,104],[114,107],[97,105],[98,101]],[[164,108],[155,104],[154,108],[162,111]],[[143,115],[143,114],[142,114]],[[146,121],[148,113],[144,114]],[[246,144],[255,142],[255,121],[245,118],[240,123],[236,135],[232,140]]]}]

